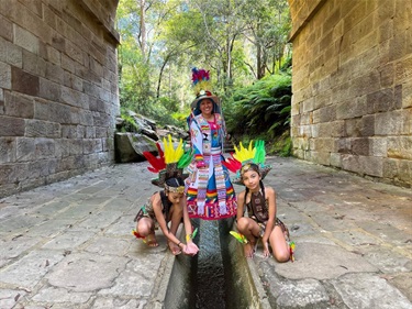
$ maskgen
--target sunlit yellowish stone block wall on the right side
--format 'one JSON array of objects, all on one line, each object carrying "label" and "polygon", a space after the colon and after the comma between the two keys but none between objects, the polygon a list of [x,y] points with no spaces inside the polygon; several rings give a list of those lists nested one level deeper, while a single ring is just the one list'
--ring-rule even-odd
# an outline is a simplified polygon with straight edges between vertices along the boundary
[{"label": "sunlit yellowish stone block wall on the right side", "polygon": [[412,1],[289,0],[293,154],[412,186]]}]

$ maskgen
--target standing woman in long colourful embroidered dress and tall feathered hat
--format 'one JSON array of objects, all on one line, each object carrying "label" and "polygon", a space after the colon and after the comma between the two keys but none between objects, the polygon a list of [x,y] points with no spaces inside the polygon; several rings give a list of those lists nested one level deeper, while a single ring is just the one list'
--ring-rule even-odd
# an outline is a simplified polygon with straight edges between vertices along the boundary
[{"label": "standing woman in long colourful embroidered dress and tall feathered hat", "polygon": [[186,179],[187,207],[190,218],[219,220],[236,216],[236,195],[224,162],[225,123],[219,98],[210,91],[209,71],[192,69],[197,98],[189,118],[194,158]]}]

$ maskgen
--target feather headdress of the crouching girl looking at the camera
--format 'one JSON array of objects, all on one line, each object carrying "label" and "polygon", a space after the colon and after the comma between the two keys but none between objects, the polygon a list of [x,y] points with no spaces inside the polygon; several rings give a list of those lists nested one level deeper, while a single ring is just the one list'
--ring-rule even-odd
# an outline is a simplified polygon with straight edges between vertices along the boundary
[{"label": "feather headdress of the crouching girl looking at the camera", "polygon": [[236,174],[236,177],[233,179],[234,184],[243,185],[241,169],[246,167],[248,163],[254,163],[259,166],[259,172],[261,179],[270,172],[271,165],[265,165],[266,151],[265,151],[265,141],[256,141],[253,146],[253,141],[250,141],[247,148],[245,148],[240,143],[240,147],[234,146],[235,153],[231,153],[230,158],[226,158],[223,162],[223,165],[227,167],[229,170]]}]

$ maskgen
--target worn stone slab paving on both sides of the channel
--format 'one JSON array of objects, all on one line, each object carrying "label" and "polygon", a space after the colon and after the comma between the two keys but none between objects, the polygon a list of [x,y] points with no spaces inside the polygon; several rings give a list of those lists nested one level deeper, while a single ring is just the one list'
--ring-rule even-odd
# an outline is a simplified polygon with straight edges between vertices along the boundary
[{"label": "worn stone slab paving on both sides of the channel", "polygon": [[[267,163],[297,252],[279,264],[258,247],[248,261],[260,307],[412,308],[412,190],[294,158]],[[149,249],[131,234],[156,190],[146,167],[0,198],[0,308],[168,308],[175,257],[162,235]]]}]

